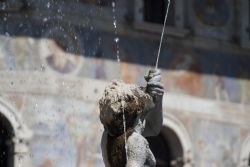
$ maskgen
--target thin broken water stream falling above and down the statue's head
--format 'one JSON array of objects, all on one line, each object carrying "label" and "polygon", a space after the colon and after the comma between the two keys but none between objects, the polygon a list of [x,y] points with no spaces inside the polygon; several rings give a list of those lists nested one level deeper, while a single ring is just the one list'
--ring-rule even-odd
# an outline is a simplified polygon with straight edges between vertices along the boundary
[{"label": "thin broken water stream falling above and down the statue's head", "polygon": [[[120,51],[119,51],[119,37],[118,37],[118,32],[117,32],[117,20],[116,20],[116,12],[115,12],[116,4],[113,1],[112,2],[112,12],[113,12],[113,27],[114,27],[114,32],[115,32],[115,38],[114,42],[116,44],[116,58],[117,62],[119,64],[119,76],[121,78],[121,59],[120,59]],[[125,153],[126,153],[126,160],[128,162],[128,147],[127,147],[127,133],[126,133],[126,117],[125,117],[125,112],[124,112],[124,100],[122,99],[121,102],[122,105],[122,119],[123,119],[123,131],[124,131],[124,142],[125,142]]]}]

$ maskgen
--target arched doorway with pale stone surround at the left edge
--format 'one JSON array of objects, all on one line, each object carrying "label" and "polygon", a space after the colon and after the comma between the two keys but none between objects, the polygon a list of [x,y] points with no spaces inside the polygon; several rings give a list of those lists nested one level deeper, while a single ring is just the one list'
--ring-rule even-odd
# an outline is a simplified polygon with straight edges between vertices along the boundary
[{"label": "arched doorway with pale stone surround at the left edge", "polygon": [[31,137],[21,116],[0,98],[0,167],[32,166],[28,147]]}]

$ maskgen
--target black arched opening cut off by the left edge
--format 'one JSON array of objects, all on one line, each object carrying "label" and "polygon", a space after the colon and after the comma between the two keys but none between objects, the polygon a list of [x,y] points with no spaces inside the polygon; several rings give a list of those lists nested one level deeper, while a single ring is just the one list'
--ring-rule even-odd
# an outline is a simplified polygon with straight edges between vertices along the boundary
[{"label": "black arched opening cut off by the left edge", "polygon": [[0,166],[14,167],[14,130],[10,122],[0,114]]}]

